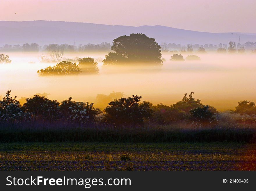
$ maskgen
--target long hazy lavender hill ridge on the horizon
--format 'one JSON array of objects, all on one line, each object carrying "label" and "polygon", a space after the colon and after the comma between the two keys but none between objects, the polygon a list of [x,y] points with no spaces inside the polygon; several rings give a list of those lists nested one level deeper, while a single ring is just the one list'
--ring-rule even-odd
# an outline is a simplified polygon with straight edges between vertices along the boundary
[{"label": "long hazy lavender hill ridge on the horizon", "polygon": [[229,41],[241,43],[256,42],[254,33],[207,33],[171,28],[167,26],[119,26],[63,21],[0,21],[0,46],[4,44],[50,43],[87,44],[112,42],[120,35],[144,33],[156,41],[176,44],[228,44]]}]

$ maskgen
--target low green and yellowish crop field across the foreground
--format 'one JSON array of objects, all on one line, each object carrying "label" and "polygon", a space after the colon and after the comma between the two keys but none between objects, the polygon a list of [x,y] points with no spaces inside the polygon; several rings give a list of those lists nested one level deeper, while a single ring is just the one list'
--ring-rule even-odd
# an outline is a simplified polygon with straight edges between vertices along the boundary
[{"label": "low green and yellowish crop field across the foreground", "polygon": [[256,170],[256,144],[0,143],[0,170]]}]

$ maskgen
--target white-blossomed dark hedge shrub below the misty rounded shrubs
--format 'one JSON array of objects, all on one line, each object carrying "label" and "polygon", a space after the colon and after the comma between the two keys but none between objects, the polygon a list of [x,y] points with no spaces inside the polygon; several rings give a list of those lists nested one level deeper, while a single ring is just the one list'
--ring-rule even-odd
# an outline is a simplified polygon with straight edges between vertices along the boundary
[{"label": "white-blossomed dark hedge shrub below the misty rounded shrubs", "polygon": [[75,102],[72,97],[61,102],[60,112],[64,119],[79,124],[94,123],[96,116],[101,113],[98,108],[93,107],[94,103]]}]

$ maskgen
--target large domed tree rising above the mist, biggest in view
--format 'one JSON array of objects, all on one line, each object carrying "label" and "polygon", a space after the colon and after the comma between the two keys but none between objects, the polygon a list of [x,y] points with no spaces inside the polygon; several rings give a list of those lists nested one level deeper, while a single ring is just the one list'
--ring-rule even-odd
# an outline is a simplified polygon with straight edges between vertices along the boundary
[{"label": "large domed tree rising above the mist, biggest in view", "polygon": [[131,34],[120,36],[113,40],[113,52],[106,55],[104,65],[120,64],[156,64],[161,65],[161,47],[154,38],[144,34]]}]

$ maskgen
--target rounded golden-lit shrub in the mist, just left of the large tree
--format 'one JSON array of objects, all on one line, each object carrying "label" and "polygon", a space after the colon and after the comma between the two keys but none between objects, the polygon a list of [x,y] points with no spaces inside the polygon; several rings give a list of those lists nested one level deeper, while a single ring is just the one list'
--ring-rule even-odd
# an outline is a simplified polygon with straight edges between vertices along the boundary
[{"label": "rounded golden-lit shrub in the mist, just left of the large tree", "polygon": [[95,62],[93,58],[79,58],[79,66],[82,68],[83,72],[86,74],[98,74],[99,68],[98,63]]}]

